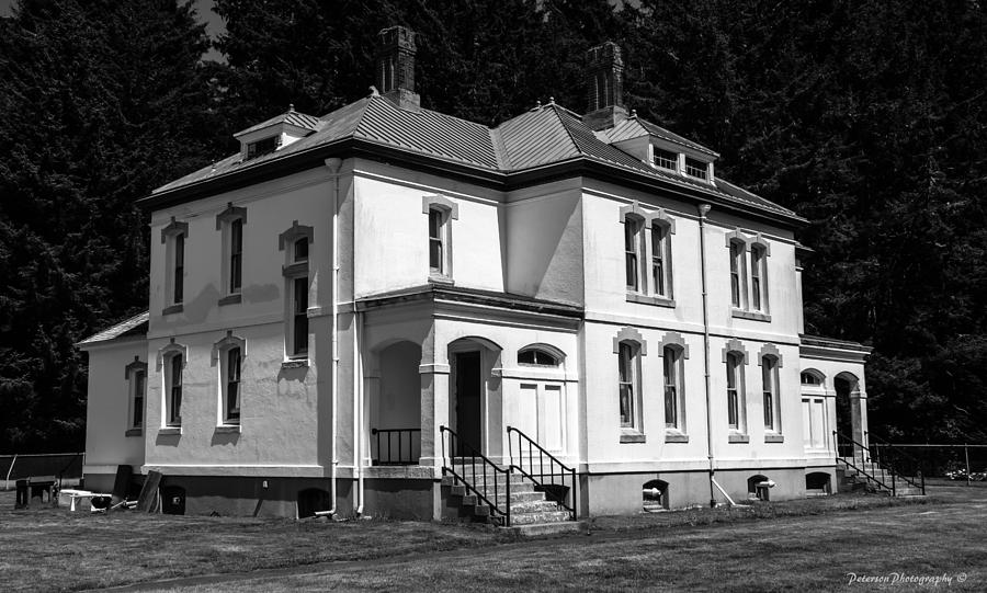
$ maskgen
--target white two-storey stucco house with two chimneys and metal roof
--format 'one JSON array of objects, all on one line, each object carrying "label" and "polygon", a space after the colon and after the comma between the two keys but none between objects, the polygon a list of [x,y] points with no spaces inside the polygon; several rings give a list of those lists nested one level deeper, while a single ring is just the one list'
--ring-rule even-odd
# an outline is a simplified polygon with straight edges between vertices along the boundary
[{"label": "white two-storey stucco house with two chimneys and metal roof", "polygon": [[805,219],[628,113],[614,44],[586,113],[491,128],[421,109],[413,34],[379,39],[370,96],[140,198],[149,312],[80,344],[88,488],[420,518],[520,516],[532,479],[578,516],[836,489],[869,350],[804,335]]}]

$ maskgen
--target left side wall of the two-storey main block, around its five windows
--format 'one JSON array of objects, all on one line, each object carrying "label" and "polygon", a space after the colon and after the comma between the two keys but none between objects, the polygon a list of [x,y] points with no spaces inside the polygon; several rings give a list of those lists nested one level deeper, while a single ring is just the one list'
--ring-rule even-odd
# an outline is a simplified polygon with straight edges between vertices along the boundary
[{"label": "left side wall of the two-storey main block, around its five windows", "polygon": [[[343,167],[345,173],[347,167]],[[348,199],[348,178],[339,183]],[[331,197],[336,179],[328,168],[194,203],[164,208],[151,220],[150,320],[146,469],[166,476],[324,476],[331,463]],[[228,204],[246,208],[241,301],[220,305],[223,232],[216,215]],[[182,311],[162,315],[166,304],[166,246],[160,230],[171,217],[189,225]],[[287,361],[290,246],[279,236],[298,225],[313,228],[309,246],[309,344],[307,363]],[[241,369],[241,419],[220,426],[219,364],[214,344],[230,332],[246,341]],[[163,346],[188,349],[183,372],[180,434],[164,427]]]}]

